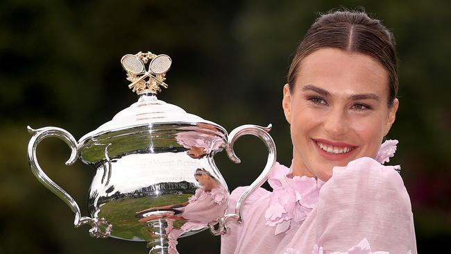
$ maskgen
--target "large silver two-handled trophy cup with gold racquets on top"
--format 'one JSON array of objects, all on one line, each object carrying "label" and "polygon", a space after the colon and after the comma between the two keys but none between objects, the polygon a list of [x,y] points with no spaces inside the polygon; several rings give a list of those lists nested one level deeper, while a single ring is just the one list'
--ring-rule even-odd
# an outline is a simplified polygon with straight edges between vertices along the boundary
[{"label": "large silver two-handled trophy cup with gold racquets on top", "polygon": [[[137,102],[121,110],[111,121],[81,137],[56,127],[34,130],[28,144],[28,162],[45,187],[74,212],[74,226],[91,226],[92,237],[114,237],[146,242],[149,253],[178,253],[178,237],[210,228],[213,235],[227,232],[230,220],[241,222],[241,205],[268,178],[275,164],[271,125],[244,125],[230,134],[226,129],[157,99],[171,67],[167,55],[151,52],[128,54],[121,59]],[[146,65],[148,69],[146,70]],[[239,198],[235,213],[227,214],[229,191],[214,163],[223,149],[239,163],[233,144],[242,135],[262,139],[269,151],[266,166]],[[58,137],[71,149],[66,164],[77,158],[94,167],[89,190],[89,217],[53,182],[37,162],[37,145],[46,137]]]}]

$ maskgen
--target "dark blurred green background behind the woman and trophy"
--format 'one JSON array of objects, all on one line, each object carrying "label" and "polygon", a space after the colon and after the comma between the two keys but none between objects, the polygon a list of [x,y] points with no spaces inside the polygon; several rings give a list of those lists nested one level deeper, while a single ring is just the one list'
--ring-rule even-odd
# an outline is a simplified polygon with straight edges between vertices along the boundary
[{"label": "dark blurred green background behind the woman and trophy", "polygon": [[[224,126],[272,123],[278,160],[291,162],[282,85],[299,40],[318,12],[364,6],[397,40],[400,109],[389,138],[411,197],[418,251],[446,253],[451,239],[450,1],[59,1],[0,2],[0,253],[147,253],[144,243],[92,239],[67,205],[40,185],[26,160],[33,128],[58,126],[79,139],[136,101],[119,60],[167,53],[170,87],[160,99]],[[229,188],[248,185],[266,161],[255,137],[216,162]],[[249,153],[248,151],[253,151]],[[69,149],[46,139],[42,168],[87,213],[93,169],[65,167]],[[205,231],[180,253],[219,253]],[[443,252],[444,251],[444,252]]]}]

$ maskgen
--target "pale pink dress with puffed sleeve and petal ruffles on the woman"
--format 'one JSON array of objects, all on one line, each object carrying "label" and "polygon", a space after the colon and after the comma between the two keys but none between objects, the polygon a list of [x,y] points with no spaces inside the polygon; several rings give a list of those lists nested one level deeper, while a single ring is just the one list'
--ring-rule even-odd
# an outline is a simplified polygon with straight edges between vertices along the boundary
[{"label": "pale pink dress with puffed sleeve and petal ruffles on the woman", "polygon": [[[269,184],[243,208],[243,223],[230,221],[221,237],[222,254],[416,254],[409,195],[398,166],[384,166],[398,141],[382,144],[376,158],[359,158],[334,167],[324,183],[291,176],[276,164]],[[232,192],[235,212],[245,187]]]}]

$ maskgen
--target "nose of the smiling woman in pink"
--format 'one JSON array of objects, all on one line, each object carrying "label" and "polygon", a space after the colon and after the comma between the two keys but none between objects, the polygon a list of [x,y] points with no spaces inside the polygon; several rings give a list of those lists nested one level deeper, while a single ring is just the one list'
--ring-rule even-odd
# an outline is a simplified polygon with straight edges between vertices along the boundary
[{"label": "nose of the smiling woman in pink", "polygon": [[325,117],[324,128],[330,137],[343,137],[350,130],[350,119],[344,110],[335,108]]}]

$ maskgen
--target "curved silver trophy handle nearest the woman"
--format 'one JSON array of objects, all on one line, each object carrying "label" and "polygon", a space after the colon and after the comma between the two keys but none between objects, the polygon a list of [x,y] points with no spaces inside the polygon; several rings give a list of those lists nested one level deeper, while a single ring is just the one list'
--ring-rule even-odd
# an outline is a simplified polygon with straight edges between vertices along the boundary
[{"label": "curved silver trophy handle nearest the woman", "polygon": [[[275,151],[275,143],[271,135],[269,135],[269,130],[271,130],[272,125],[269,124],[267,127],[262,126],[256,126],[252,124],[246,124],[244,126],[239,126],[232,130],[232,132],[229,135],[228,144],[226,147],[226,152],[230,160],[235,163],[240,163],[241,160],[235,155],[235,151],[233,150],[233,144],[235,144],[235,141],[243,136],[243,135],[254,135],[262,139],[264,144],[266,144],[266,148],[268,149],[268,160],[266,161],[266,166],[264,167],[262,173],[257,177],[257,179],[254,180],[254,182],[249,185],[249,187],[246,189],[246,191],[241,194],[237,201],[237,205],[235,206],[235,213],[233,214],[226,214],[223,217],[217,219],[216,221],[213,221],[212,223],[209,223],[210,230],[212,231],[213,235],[223,235],[227,232],[227,221],[229,219],[235,219],[238,221],[238,223],[241,223],[243,221],[243,218],[241,217],[241,206],[244,204],[244,201],[246,201],[246,198],[250,194],[252,194],[255,189],[261,187],[266,180],[268,180],[269,174],[271,173],[271,169],[273,168],[276,160],[276,151]],[[216,223],[219,223],[219,227],[216,230],[214,228],[214,225]]]}]

